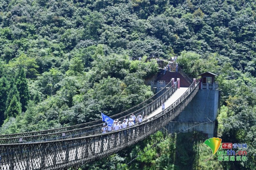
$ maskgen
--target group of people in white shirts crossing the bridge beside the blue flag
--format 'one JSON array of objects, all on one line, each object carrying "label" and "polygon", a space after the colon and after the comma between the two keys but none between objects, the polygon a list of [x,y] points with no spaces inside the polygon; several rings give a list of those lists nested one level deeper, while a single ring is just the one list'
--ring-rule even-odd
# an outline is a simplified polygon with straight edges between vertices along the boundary
[{"label": "group of people in white shirts crossing the bridge beside the blue flag", "polygon": [[[147,115],[145,116],[145,119],[146,119]],[[136,116],[134,114],[132,114],[129,118],[129,120],[124,117],[124,120],[123,122],[121,123],[121,121],[119,121],[119,119],[116,119],[114,121],[114,123],[112,124],[112,126],[108,126],[107,123],[103,123],[103,127],[101,129],[102,133],[107,133],[107,132],[110,132],[112,130],[119,130],[119,129],[122,129],[122,128],[127,128],[129,126],[132,126],[134,125],[136,122],[142,122],[143,121],[143,118],[142,118],[142,115],[139,114],[136,118]]]}]

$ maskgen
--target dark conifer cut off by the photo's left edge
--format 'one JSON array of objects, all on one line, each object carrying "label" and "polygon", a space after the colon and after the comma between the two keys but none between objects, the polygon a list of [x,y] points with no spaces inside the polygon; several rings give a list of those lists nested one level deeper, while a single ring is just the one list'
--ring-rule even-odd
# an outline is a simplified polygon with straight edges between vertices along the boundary
[{"label": "dark conifer cut off by the photo's left edge", "polygon": [[4,112],[5,112],[5,104],[8,96],[9,91],[9,82],[3,76],[0,78],[0,126],[3,124],[4,121]]}]

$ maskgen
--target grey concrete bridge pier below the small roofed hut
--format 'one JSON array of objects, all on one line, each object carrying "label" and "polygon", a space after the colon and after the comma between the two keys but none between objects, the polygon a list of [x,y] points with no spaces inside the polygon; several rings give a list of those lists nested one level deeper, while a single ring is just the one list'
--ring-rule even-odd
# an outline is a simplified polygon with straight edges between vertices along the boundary
[{"label": "grey concrete bridge pier below the small roofed hut", "polygon": [[218,88],[200,89],[180,115],[165,128],[172,133],[198,131],[207,134],[209,138],[213,137],[215,120],[220,108],[219,94]]}]

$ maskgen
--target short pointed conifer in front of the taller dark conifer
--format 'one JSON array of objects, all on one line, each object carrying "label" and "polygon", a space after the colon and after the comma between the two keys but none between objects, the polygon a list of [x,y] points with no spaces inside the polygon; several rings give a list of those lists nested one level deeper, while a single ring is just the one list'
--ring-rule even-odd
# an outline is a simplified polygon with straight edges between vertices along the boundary
[{"label": "short pointed conifer in front of the taller dark conifer", "polygon": [[10,105],[6,111],[6,117],[16,117],[21,113],[21,104],[20,101],[17,100],[17,96],[14,95],[10,102]]}]

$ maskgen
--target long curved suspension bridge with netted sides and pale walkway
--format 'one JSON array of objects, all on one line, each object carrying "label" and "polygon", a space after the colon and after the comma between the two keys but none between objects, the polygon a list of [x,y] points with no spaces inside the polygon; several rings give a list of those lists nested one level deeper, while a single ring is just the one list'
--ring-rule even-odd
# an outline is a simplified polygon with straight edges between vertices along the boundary
[{"label": "long curved suspension bridge with netted sides and pale walkway", "polygon": [[102,134],[100,119],[58,129],[0,135],[0,169],[78,168],[136,144],[177,118],[199,90],[196,79],[190,79],[188,87],[180,87],[180,78],[169,79],[148,100],[111,116],[122,120],[132,113],[144,118],[147,115],[147,119],[124,129]]}]

